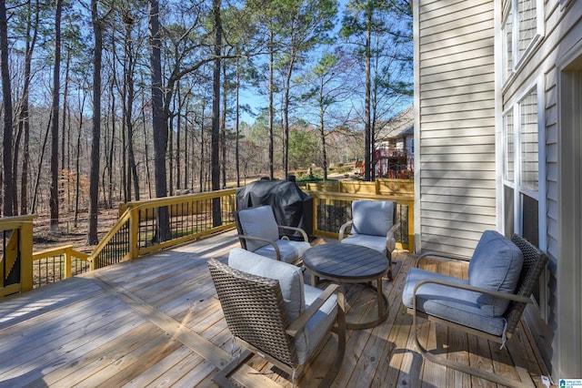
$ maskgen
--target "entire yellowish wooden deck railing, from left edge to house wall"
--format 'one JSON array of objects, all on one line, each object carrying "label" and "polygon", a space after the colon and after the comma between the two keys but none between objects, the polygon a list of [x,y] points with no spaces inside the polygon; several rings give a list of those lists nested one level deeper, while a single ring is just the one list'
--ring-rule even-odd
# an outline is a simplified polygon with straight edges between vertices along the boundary
[{"label": "entire yellowish wooden deck railing, from left edge to house wall", "polygon": [[[334,189],[342,192],[321,185],[307,187],[306,191],[314,199],[313,233],[336,238],[340,226],[351,220],[351,203],[356,199],[390,200],[396,202],[396,220],[401,223],[396,232],[396,247],[405,250],[414,247],[414,197],[386,195],[387,184],[391,183],[336,185]],[[119,220],[90,254],[72,246],[33,254],[32,220],[35,216],[0,219],[4,241],[0,298],[204,235],[234,229],[235,210],[236,189],[129,202],[121,205]],[[162,228],[162,223],[166,228]]]}]

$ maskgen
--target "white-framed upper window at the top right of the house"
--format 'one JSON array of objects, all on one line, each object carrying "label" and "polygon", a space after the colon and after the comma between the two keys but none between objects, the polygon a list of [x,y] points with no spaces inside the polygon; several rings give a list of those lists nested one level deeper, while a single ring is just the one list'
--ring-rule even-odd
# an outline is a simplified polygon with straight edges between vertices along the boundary
[{"label": "white-framed upper window at the top right of the house", "polygon": [[508,0],[505,4],[501,26],[504,82],[525,62],[543,35],[543,9],[542,0]]}]

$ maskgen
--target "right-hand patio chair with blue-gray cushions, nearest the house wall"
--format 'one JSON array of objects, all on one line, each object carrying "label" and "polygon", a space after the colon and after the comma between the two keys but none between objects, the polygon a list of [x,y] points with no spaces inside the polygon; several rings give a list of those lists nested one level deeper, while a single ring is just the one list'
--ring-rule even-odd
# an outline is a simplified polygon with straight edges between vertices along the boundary
[{"label": "right-hand patio chair with blue-gray cushions, nearest the house wall", "polygon": [[[439,260],[468,260],[441,253],[427,252],[425,257]],[[523,237],[515,234],[511,240],[487,230],[481,236],[469,261],[468,280],[431,271],[412,268],[406,276],[402,301],[413,316],[412,334],[416,348],[429,361],[476,375],[507,386],[525,386],[498,373],[454,362],[426,351],[418,342],[416,318],[475,334],[498,342],[503,349],[517,329],[547,256]]]}]

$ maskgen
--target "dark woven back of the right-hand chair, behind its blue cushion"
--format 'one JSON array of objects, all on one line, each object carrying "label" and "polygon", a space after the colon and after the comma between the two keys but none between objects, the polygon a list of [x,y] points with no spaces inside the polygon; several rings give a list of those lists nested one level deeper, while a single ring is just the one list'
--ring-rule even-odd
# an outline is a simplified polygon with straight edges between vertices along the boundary
[{"label": "dark woven back of the right-hand chair, behind its blue cushion", "polygon": [[[516,294],[529,298],[537,286],[539,276],[546,267],[547,255],[518,234],[514,234],[511,240],[524,256],[524,264],[517,282]],[[519,301],[511,301],[507,306],[507,311],[504,314],[507,320],[507,337],[510,337],[515,332],[525,309],[526,303]]]}]

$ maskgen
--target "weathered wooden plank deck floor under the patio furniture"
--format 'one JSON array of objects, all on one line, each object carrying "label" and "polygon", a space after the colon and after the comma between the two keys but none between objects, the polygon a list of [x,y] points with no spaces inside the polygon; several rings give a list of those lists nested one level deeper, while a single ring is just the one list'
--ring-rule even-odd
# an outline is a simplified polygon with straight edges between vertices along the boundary
[{"label": "weathered wooden plank deck floor under the patio furniture", "polygon": [[[237,246],[235,233],[226,232],[0,300],[0,386],[215,386],[212,377],[231,358],[232,341],[206,260],[226,259]],[[388,319],[374,329],[347,332],[346,357],[334,385],[496,386],[423,362],[415,352],[412,318],[401,303],[413,258],[400,253],[396,260],[395,281],[384,281]],[[366,292],[359,286],[347,289],[348,306],[361,307],[348,311],[350,319],[376,311],[376,299]],[[447,357],[543,386],[523,328],[509,342],[509,352],[452,330],[435,330],[428,322],[419,330],[428,349],[438,347]],[[316,385],[335,346],[330,337],[299,386]],[[289,376],[260,358],[248,362],[236,380],[291,386]]]}]

